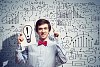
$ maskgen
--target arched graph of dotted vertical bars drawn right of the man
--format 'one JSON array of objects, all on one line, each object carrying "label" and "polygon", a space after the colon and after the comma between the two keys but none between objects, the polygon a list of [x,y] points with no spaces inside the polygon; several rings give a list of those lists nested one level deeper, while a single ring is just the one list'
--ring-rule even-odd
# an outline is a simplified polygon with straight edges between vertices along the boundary
[{"label": "arched graph of dotted vertical bars drawn right of the man", "polygon": [[89,34],[83,34],[77,35],[76,37],[72,38],[72,44],[73,47],[92,47],[93,45],[93,38],[89,36]]}]

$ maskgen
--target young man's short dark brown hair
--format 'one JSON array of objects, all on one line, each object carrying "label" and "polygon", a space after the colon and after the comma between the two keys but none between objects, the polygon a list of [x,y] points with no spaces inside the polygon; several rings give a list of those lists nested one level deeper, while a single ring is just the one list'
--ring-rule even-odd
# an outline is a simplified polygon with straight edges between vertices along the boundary
[{"label": "young man's short dark brown hair", "polygon": [[49,31],[51,30],[51,25],[50,25],[50,22],[48,20],[45,20],[45,19],[39,19],[37,22],[36,22],[36,25],[35,25],[35,31],[38,32],[38,26],[42,25],[42,24],[48,24],[48,28],[49,28]]}]

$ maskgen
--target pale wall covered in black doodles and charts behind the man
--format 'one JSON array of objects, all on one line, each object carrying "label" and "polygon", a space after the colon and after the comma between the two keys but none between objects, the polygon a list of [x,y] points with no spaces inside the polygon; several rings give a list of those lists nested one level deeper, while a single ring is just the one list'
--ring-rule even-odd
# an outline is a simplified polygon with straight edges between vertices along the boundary
[{"label": "pale wall covered in black doodles and charts behind the man", "polygon": [[68,58],[61,67],[100,67],[99,0],[0,0],[0,65],[25,67],[15,63],[17,36],[39,18],[61,34]]}]

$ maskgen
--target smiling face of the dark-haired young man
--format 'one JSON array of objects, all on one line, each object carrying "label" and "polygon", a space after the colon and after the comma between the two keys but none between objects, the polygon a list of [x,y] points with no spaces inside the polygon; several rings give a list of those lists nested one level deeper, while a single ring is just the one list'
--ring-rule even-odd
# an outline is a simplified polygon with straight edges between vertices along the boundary
[{"label": "smiling face of the dark-haired young man", "polygon": [[48,24],[42,24],[38,26],[38,35],[41,39],[45,40],[49,34]]}]

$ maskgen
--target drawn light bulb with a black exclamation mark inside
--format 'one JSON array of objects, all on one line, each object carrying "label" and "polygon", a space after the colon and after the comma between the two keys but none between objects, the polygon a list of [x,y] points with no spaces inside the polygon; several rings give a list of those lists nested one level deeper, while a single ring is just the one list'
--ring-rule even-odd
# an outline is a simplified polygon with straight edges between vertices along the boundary
[{"label": "drawn light bulb with a black exclamation mark inside", "polygon": [[32,27],[30,25],[26,25],[23,28],[23,33],[28,43],[31,42],[31,34],[32,34]]}]

